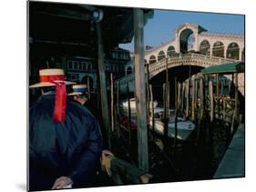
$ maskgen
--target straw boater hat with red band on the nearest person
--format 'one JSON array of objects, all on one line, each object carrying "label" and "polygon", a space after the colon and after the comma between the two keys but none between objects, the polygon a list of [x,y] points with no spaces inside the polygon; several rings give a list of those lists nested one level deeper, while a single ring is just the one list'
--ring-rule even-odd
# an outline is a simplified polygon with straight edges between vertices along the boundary
[{"label": "straw boater hat with red band on the nearest person", "polygon": [[60,68],[48,68],[39,70],[40,82],[29,86],[43,87],[43,86],[56,86],[57,82],[65,82],[66,85],[76,84],[74,82],[65,81],[64,70]]}]

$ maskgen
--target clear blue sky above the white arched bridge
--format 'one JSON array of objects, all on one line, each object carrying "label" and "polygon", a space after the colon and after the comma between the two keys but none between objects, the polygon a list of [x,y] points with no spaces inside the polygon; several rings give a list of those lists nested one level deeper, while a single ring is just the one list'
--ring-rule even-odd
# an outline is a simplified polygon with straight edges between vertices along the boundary
[{"label": "clear blue sky above the white arched bridge", "polygon": [[[154,10],[153,18],[144,26],[144,44],[158,46],[175,37],[175,29],[183,23],[201,25],[208,32],[244,34],[244,15],[213,14],[173,10]],[[120,44],[133,52],[133,41]]]}]

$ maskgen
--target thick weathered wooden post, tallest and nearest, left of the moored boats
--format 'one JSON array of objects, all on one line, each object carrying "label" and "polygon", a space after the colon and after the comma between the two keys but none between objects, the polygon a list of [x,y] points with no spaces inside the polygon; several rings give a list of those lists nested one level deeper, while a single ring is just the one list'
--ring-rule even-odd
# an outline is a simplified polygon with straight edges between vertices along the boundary
[{"label": "thick weathered wooden post, tallest and nearest, left of the moored boats", "polygon": [[138,117],[138,167],[148,171],[148,126],[146,111],[146,88],[144,66],[144,13],[139,8],[133,9],[134,15],[134,64],[135,97]]}]

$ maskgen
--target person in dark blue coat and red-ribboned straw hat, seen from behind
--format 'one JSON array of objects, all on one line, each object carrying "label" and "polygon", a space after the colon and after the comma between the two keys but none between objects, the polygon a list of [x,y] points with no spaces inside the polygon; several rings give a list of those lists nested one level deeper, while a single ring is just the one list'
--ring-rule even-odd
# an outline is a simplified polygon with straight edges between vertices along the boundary
[{"label": "person in dark blue coat and red-ribboned straw hat, seen from behind", "polygon": [[84,187],[102,151],[97,119],[66,96],[62,69],[39,71],[42,96],[29,108],[29,190]]}]

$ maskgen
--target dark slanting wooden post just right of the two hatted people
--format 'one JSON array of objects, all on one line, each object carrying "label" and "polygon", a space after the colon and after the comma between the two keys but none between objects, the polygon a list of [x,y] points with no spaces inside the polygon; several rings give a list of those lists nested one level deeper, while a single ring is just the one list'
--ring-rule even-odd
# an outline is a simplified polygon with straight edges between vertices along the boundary
[{"label": "dark slanting wooden post just right of the two hatted people", "polygon": [[99,76],[99,89],[100,89],[100,104],[101,104],[101,115],[103,120],[104,128],[108,136],[108,148],[111,150],[111,135],[110,135],[110,123],[108,113],[108,94],[104,64],[104,49],[103,41],[101,36],[100,23],[96,23],[97,31],[97,65],[98,65],[98,76]]}]

